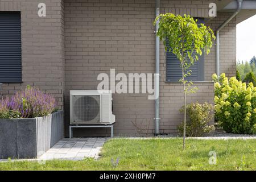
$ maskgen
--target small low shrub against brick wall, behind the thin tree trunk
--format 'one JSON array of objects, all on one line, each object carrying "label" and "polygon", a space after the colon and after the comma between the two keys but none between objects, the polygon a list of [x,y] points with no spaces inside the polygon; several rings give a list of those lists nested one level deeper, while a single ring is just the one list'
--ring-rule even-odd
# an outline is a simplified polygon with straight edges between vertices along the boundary
[{"label": "small low shrub against brick wall, behind the thin tree trunk", "polygon": [[[184,106],[180,110],[184,113]],[[205,102],[204,104],[192,103],[187,105],[187,114],[190,122],[186,125],[187,137],[202,137],[204,134],[214,130],[214,125],[209,125],[213,119],[214,106]],[[183,133],[183,123],[178,126],[180,134]]]}]

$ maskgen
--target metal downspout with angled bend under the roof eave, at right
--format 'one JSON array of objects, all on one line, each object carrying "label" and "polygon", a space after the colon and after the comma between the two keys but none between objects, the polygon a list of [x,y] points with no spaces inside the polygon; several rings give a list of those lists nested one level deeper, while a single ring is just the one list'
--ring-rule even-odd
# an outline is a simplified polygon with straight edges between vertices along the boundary
[{"label": "metal downspout with angled bend under the roof eave, at right", "polygon": [[216,30],[216,74],[220,77],[220,31],[226,26],[242,9],[243,0],[237,0],[237,10]]}]

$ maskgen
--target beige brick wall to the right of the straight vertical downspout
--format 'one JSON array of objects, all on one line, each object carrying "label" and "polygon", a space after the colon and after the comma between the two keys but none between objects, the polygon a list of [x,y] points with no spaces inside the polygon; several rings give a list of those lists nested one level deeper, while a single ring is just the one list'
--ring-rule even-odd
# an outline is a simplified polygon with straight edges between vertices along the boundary
[{"label": "beige brick wall to the right of the straight vertical downspout", "polygon": [[[165,2],[165,1],[164,1]],[[173,1],[166,1],[162,13],[191,14],[195,17],[204,17],[205,24],[210,26],[215,32],[232,13],[217,13],[217,17],[208,18],[208,5],[210,1],[175,1],[175,5],[171,5]],[[172,6],[172,7],[168,7]],[[176,7],[176,8],[175,8]],[[185,7],[185,8],[183,8]],[[195,8],[200,7],[199,11]],[[194,10],[193,10],[194,9]],[[204,11],[207,10],[207,11]],[[220,67],[221,73],[225,72],[226,76],[236,75],[236,18],[226,25],[220,32]],[[194,86],[198,88],[194,94],[189,94],[188,103],[198,101],[200,103],[214,103],[214,86],[211,82],[211,76],[216,71],[215,44],[209,53],[205,55],[204,60],[204,82],[194,82]],[[183,86],[179,83],[167,83],[166,81],[166,58],[163,44],[160,45],[160,133],[175,133],[177,125],[182,121],[183,115],[179,109],[183,106]]]}]

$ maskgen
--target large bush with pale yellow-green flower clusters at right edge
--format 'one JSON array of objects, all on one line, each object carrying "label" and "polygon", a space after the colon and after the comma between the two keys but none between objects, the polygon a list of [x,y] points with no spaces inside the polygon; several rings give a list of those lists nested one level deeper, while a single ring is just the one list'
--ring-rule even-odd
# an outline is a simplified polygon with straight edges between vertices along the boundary
[{"label": "large bush with pale yellow-green flower clusters at right edge", "polygon": [[256,133],[256,87],[250,82],[238,81],[236,77],[229,80],[222,73],[218,81],[212,76],[215,88],[215,117],[228,133]]}]

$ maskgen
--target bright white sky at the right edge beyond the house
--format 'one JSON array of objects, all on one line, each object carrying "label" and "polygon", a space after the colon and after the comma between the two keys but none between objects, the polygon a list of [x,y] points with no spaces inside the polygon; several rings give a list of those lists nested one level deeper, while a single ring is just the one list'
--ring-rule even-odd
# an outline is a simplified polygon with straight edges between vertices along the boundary
[{"label": "bright white sky at the right edge beyond the house", "polygon": [[237,61],[256,56],[256,15],[237,24]]}]

